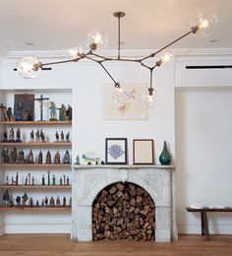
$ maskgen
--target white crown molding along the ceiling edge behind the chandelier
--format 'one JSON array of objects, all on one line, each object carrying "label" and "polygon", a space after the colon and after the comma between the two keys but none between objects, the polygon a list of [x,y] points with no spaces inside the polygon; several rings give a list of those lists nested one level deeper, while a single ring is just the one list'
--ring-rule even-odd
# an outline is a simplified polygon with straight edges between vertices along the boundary
[{"label": "white crown molding along the ceiling edge behind the chandelier", "polygon": [[[155,52],[152,50],[121,50],[123,57],[145,57],[150,53]],[[172,49],[175,56],[219,56],[219,55],[232,55],[232,48],[201,48],[201,49]],[[19,59],[24,56],[36,56],[37,58],[68,58],[64,50],[56,51],[7,51],[0,45],[0,54],[3,53],[8,59]],[[101,54],[108,57],[116,57],[117,50],[103,50]]]}]

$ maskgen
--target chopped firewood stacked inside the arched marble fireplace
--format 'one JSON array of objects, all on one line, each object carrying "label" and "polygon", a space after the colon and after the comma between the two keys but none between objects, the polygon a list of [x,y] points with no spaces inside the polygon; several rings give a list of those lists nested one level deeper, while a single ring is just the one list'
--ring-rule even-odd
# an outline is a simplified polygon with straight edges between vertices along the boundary
[{"label": "chopped firewood stacked inside the arched marble fireplace", "polygon": [[92,238],[153,240],[155,207],[142,187],[116,183],[101,190],[92,205]]}]

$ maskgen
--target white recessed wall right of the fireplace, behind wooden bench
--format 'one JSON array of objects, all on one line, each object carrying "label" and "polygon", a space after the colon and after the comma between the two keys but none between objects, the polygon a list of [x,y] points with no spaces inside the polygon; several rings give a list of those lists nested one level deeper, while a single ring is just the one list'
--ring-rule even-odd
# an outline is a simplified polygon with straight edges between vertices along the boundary
[{"label": "white recessed wall right of the fireplace, behind wooden bench", "polygon": [[[226,57],[228,59],[228,56]],[[194,65],[205,65],[198,58]],[[176,67],[177,219],[180,233],[201,233],[200,214],[191,204],[232,206],[232,77],[229,69]],[[224,57],[207,65],[226,64]],[[188,76],[187,74],[188,73]],[[216,83],[217,82],[217,83]],[[210,233],[232,233],[231,214],[208,214]]]}]

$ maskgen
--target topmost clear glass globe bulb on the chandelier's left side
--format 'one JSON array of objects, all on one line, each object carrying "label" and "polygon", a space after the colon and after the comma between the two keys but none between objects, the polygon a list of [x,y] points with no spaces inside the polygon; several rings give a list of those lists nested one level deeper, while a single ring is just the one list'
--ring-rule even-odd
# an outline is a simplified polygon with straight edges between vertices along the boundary
[{"label": "topmost clear glass globe bulb on the chandelier's left side", "polygon": [[102,32],[101,29],[95,28],[87,33],[87,47],[92,50],[101,50],[108,44],[108,33]]}]

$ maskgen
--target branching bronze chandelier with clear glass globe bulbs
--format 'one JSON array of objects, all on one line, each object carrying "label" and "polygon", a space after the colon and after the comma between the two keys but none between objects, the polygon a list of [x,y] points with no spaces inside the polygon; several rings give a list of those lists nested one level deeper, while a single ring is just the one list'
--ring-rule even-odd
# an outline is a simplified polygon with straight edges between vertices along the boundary
[{"label": "branching bronze chandelier with clear glass globe bulbs", "polygon": [[139,63],[149,71],[149,87],[148,87],[148,101],[152,101],[153,98],[153,87],[152,87],[152,75],[153,70],[156,67],[160,67],[163,63],[169,61],[172,57],[170,53],[165,53],[153,63],[153,65],[146,64],[147,60],[150,60],[154,57],[157,57],[157,54],[160,54],[161,52],[164,52],[166,48],[174,44],[175,42],[183,39],[187,35],[193,33],[196,34],[197,32],[200,34],[200,36],[204,36],[209,34],[212,31],[212,28],[217,23],[217,18],[215,15],[208,15],[208,14],[199,14],[196,19],[193,21],[193,27],[189,32],[184,33],[183,35],[179,36],[175,40],[171,41],[167,45],[163,46],[161,49],[156,50],[155,52],[150,53],[149,55],[138,58],[138,59],[131,59],[131,58],[123,58],[121,57],[121,31],[120,31],[120,22],[121,18],[125,16],[124,12],[116,12],[114,13],[114,17],[118,19],[118,54],[117,57],[105,57],[103,55],[99,55],[95,53],[96,50],[102,49],[107,41],[108,37],[107,34],[103,34],[97,30],[92,30],[87,34],[87,46],[89,47],[88,51],[85,53],[83,51],[82,46],[79,46],[77,48],[73,48],[69,50],[69,54],[71,56],[68,60],[62,60],[62,61],[55,61],[50,63],[41,63],[36,57],[27,56],[22,59],[20,59],[17,63],[17,71],[19,74],[24,78],[35,78],[36,77],[36,71],[39,69],[42,69],[44,66],[50,66],[54,64],[61,64],[61,63],[67,63],[67,62],[79,62],[82,59],[87,59],[90,61],[93,61],[97,64],[99,64],[102,69],[105,71],[105,73],[109,76],[109,78],[113,81],[114,87],[119,91],[122,92],[123,88],[121,85],[112,77],[112,75],[109,73],[109,71],[105,67],[105,63],[109,61],[120,61],[120,62],[134,62]]}]

